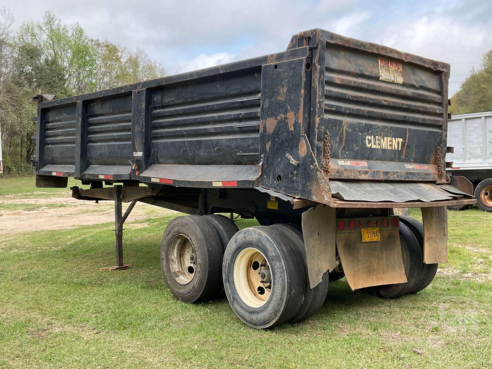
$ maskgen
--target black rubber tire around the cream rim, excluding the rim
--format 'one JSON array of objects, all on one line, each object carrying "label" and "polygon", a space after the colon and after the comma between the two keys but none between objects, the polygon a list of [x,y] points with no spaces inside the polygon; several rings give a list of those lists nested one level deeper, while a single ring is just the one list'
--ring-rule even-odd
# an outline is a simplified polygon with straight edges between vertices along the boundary
[{"label": "black rubber tire around the cream rim, excluding the rim", "polygon": [[[236,258],[248,247],[257,249],[265,256],[272,273],[272,291],[261,307],[247,305],[234,283]],[[300,255],[292,241],[277,229],[256,226],[236,233],[225,251],[222,273],[230,306],[252,328],[270,328],[287,323],[301,307],[305,280]]]}]

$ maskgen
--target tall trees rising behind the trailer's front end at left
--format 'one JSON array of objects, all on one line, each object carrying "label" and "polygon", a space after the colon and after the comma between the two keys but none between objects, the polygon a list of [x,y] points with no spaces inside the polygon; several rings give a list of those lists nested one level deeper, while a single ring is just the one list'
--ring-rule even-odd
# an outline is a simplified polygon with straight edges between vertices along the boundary
[{"label": "tall trees rising behind the trailer's front end at left", "polygon": [[13,31],[14,16],[0,10],[0,129],[6,173],[29,170],[39,93],[57,98],[109,89],[167,75],[137,48],[94,39],[79,23],[64,24],[51,11]]}]

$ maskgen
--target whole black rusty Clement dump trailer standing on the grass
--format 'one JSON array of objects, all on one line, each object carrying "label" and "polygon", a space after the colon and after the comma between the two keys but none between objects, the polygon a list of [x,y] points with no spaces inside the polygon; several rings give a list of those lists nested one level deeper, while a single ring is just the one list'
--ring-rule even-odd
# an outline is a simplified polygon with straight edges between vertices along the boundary
[{"label": "whole black rusty Clement dump trailer standing on the grass", "polygon": [[[111,270],[130,267],[136,202],[186,213],[163,230],[168,288],[184,303],[225,291],[253,328],[309,318],[344,276],[384,298],[416,293],[447,261],[446,207],[475,203],[445,174],[449,70],[314,29],[276,54],[38,95],[36,186],[74,177],[90,184],[74,198],[114,201]],[[421,208],[423,224],[398,208]],[[233,215],[260,225],[238,231]]]}]

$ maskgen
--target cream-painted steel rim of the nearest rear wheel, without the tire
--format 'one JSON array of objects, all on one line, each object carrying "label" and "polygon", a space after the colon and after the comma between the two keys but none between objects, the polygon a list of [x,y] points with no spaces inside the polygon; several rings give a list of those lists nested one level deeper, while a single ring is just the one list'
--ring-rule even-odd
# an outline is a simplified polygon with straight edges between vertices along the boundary
[{"label": "cream-painted steel rim of the nearest rear wheel, without the tire", "polygon": [[261,307],[270,298],[273,286],[267,258],[254,247],[242,250],[234,261],[234,286],[241,300],[250,307]]}]

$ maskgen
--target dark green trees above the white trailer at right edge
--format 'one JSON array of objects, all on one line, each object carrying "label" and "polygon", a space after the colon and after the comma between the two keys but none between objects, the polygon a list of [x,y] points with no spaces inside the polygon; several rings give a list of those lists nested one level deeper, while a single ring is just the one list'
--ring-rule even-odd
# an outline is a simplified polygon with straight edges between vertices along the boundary
[{"label": "dark green trees above the white trailer at right edge", "polygon": [[461,84],[451,98],[452,115],[492,111],[492,50],[482,57],[482,64]]}]

